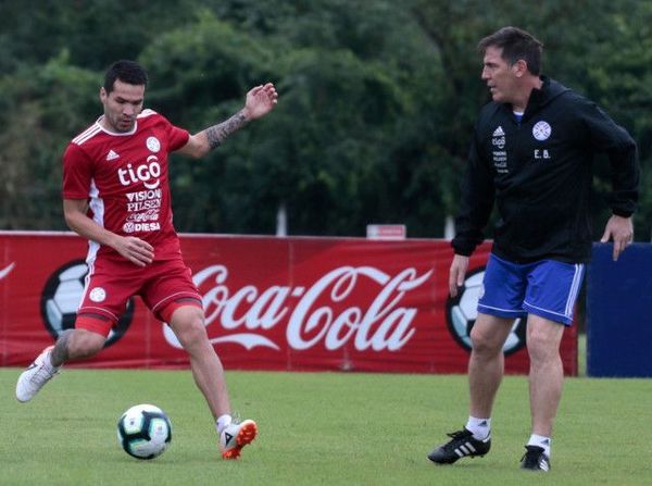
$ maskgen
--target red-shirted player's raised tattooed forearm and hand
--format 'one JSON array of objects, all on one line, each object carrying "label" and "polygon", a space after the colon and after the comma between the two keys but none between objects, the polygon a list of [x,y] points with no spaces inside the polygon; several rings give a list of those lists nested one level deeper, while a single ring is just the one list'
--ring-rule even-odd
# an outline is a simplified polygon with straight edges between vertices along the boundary
[{"label": "red-shirted player's raised tattooed forearm and hand", "polygon": [[179,150],[190,157],[200,158],[220,147],[234,132],[239,130],[252,120],[266,115],[278,101],[278,94],[272,83],[260,85],[247,94],[244,108],[230,119],[191,135]]}]

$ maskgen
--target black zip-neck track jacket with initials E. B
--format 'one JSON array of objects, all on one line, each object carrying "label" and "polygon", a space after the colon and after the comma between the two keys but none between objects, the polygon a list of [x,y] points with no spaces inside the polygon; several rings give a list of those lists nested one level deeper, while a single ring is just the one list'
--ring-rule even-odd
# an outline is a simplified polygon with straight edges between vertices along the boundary
[{"label": "black zip-neck track jacket with initials E. B", "polygon": [[591,252],[589,196],[593,154],[612,166],[614,214],[630,216],[638,200],[636,144],[595,103],[541,77],[518,124],[510,104],[491,102],[476,122],[455,253],[482,241],[493,202],[499,212],[492,252],[516,263],[586,262]]}]

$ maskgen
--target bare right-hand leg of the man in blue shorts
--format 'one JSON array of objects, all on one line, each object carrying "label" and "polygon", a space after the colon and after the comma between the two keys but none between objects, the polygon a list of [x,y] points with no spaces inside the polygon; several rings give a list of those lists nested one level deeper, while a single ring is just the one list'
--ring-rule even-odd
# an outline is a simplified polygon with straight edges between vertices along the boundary
[{"label": "bare right-hand leg of the man in blue shorts", "polygon": [[530,359],[529,391],[532,434],[551,437],[562,398],[564,369],[560,344],[564,325],[538,315],[527,317],[527,350]]}]

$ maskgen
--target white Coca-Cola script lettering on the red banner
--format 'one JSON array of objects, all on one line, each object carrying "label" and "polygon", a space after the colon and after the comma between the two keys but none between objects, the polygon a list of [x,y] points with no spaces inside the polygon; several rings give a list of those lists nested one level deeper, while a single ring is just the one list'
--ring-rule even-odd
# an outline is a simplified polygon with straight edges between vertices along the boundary
[{"label": "white Coca-Cola script lettering on the red banner", "polygon": [[[415,269],[409,267],[392,276],[373,266],[340,266],[310,287],[275,285],[259,289],[246,285],[231,291],[226,284],[228,269],[211,265],[197,272],[193,282],[203,292],[206,327],[214,323],[222,327],[220,337],[211,339],[213,344],[235,342],[247,349],[262,346],[279,350],[265,332],[287,323],[285,335],[291,349],[306,350],[322,344],[327,350],[336,350],[350,342],[359,351],[397,351],[413,337],[412,323],[417,312],[400,303],[405,294],[428,282],[432,272],[419,276]],[[209,285],[212,287],[204,289]],[[372,295],[369,286],[373,286],[376,289],[373,300],[367,306],[351,302],[346,307],[359,286],[367,286]],[[164,334],[170,345],[180,348],[167,325]]]}]

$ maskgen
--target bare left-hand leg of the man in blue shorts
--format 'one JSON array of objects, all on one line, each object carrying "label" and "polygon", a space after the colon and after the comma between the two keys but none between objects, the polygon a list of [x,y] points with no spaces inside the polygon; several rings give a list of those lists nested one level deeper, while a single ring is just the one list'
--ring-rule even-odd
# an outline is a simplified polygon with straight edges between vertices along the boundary
[{"label": "bare left-hand leg of the man in blue shorts", "polygon": [[504,371],[503,345],[514,321],[478,313],[471,329],[473,350],[468,360],[469,414],[490,418]]}]

